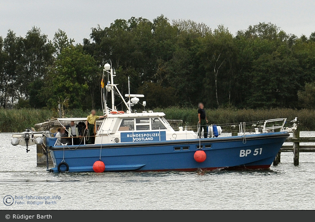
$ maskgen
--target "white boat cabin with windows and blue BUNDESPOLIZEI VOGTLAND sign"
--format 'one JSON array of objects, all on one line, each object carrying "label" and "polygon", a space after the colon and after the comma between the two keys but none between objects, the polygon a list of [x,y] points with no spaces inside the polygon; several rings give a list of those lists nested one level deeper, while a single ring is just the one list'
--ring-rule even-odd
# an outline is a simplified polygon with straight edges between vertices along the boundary
[{"label": "white boat cabin with windows and blue BUNDESPOLIZEI VOGTLAND sign", "polygon": [[194,139],[194,131],[175,131],[163,112],[108,114],[100,124],[95,144]]}]

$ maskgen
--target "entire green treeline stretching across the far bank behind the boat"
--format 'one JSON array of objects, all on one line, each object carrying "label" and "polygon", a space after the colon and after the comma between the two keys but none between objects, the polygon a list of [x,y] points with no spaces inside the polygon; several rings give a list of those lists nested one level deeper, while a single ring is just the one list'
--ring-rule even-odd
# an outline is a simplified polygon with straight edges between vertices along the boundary
[{"label": "entire green treeline stretching across the far bank behind the boat", "polygon": [[0,37],[0,107],[100,108],[106,62],[122,94],[129,76],[147,108],[301,108],[298,91],[315,78],[315,32],[297,37],[272,23],[232,35],[223,25],[131,17],[73,42],[60,29],[50,41],[36,27]]}]

